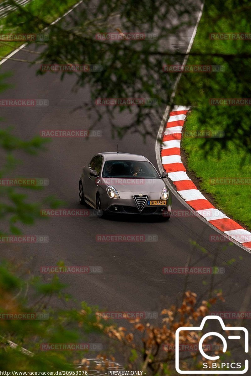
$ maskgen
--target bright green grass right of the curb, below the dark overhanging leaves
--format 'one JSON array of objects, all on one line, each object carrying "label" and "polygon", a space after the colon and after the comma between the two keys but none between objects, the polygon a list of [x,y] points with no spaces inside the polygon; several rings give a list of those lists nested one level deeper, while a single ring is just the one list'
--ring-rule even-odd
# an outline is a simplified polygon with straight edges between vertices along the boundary
[{"label": "bright green grass right of the curb, below the dark overhanging leaves", "polygon": [[[187,117],[185,129],[186,132],[196,132],[198,129],[206,130],[207,128],[199,124],[198,113],[192,111]],[[188,155],[188,170],[194,171],[196,176],[201,178],[201,188],[214,197],[219,209],[251,228],[250,184],[214,184],[214,180],[211,181],[211,179],[223,177],[249,177],[251,183],[250,164],[247,162],[242,164],[245,152],[237,150],[234,144],[230,144],[229,150],[221,150],[220,159],[218,159],[217,148],[214,152],[208,153],[205,158],[204,139],[187,137],[186,132],[182,138],[182,147]]]}]

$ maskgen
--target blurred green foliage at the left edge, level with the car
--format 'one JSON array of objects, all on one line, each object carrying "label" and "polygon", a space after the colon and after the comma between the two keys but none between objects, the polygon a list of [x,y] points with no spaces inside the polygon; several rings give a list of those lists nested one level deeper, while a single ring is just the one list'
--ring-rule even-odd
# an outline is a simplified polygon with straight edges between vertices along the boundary
[{"label": "blurred green foliage at the left edge, level with the car", "polygon": [[[12,130],[0,129],[0,149],[3,150],[2,155],[5,160],[0,166],[0,219],[9,222],[8,230],[0,228],[0,235],[20,235],[20,224],[31,225],[36,220],[42,218],[40,215],[41,208],[46,205],[50,208],[58,208],[62,205],[62,201],[55,196],[45,197],[40,202],[30,202],[27,190],[41,190],[42,186],[25,183],[26,179],[32,177],[20,177],[14,172],[21,161],[15,157],[15,153],[27,153],[29,155],[37,155],[38,152],[45,150],[45,146],[49,139],[43,139],[35,136],[29,141],[24,141],[12,134]],[[24,179],[24,185],[12,184],[8,178],[11,175],[13,179]]]}]

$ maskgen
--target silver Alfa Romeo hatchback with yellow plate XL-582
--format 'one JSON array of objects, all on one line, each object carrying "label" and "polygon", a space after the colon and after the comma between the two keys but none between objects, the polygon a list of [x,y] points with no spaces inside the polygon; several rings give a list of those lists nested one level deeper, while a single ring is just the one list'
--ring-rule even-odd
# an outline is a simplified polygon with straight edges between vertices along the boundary
[{"label": "silver Alfa Romeo hatchback with yellow plate XL-582", "polygon": [[79,203],[97,210],[97,215],[162,215],[168,220],[172,197],[154,165],[142,155],[99,153],[82,169]]}]

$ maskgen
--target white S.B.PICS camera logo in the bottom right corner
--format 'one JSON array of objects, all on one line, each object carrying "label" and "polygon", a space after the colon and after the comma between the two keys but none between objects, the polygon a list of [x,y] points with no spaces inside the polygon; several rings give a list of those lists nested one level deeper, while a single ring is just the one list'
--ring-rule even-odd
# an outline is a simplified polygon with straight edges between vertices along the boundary
[{"label": "white S.B.PICS camera logo in the bottom right corner", "polygon": [[[213,321],[214,320],[214,321]],[[209,331],[211,324],[218,331]],[[219,326],[221,327],[219,329]],[[198,343],[197,361],[194,361],[194,351],[191,354],[190,370],[188,359],[180,351],[184,342]],[[241,346],[240,346],[241,344]],[[201,326],[182,326],[175,334],[175,368],[180,374],[244,374],[248,371],[248,360],[233,359],[233,354],[227,360],[227,350],[239,347],[243,353],[248,353],[248,331],[242,326],[225,326],[218,316],[206,316]],[[220,349],[220,350],[219,350]]]}]

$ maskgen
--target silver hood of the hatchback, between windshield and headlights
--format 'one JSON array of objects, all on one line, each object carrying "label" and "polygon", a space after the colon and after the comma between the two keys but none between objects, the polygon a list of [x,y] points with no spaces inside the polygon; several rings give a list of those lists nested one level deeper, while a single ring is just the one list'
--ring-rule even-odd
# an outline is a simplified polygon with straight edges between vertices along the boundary
[{"label": "silver hood of the hatchback, between windshield and headlights", "polygon": [[100,183],[113,186],[118,192],[138,193],[161,193],[166,186],[162,179],[143,178],[108,178],[102,177]]}]

